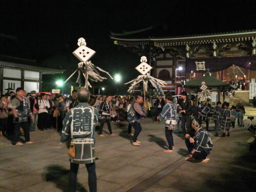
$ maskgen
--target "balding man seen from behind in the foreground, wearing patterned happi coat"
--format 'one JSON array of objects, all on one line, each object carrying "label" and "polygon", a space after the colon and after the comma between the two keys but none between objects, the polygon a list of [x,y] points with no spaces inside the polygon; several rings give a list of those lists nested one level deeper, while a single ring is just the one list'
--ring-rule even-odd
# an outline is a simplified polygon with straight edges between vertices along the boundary
[{"label": "balding man seen from behind in the foreground, wearing patterned happi coat", "polygon": [[97,191],[95,171],[95,126],[98,110],[89,106],[90,92],[81,88],[77,93],[79,104],[72,108],[63,120],[60,142],[71,139],[75,145],[75,155],[70,157],[69,191],[76,191],[79,164],[86,164],[90,192]]}]

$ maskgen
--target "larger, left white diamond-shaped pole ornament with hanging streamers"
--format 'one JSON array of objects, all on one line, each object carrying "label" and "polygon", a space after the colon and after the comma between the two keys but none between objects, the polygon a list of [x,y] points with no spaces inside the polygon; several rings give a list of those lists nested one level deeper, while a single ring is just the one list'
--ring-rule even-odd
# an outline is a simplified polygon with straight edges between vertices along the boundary
[{"label": "larger, left white diamond-shaped pole ornament with hanging streamers", "polygon": [[[76,82],[79,84],[79,87],[81,87],[81,75],[84,77],[85,79],[85,84],[84,87],[86,89],[88,89],[89,87],[91,88],[91,84],[89,82],[89,79],[92,81],[103,81],[104,79],[106,79],[105,77],[102,77],[100,75],[100,73],[97,71],[101,71],[104,72],[106,74],[108,74],[110,76],[111,79],[112,76],[100,69],[99,67],[95,66],[89,59],[96,53],[94,50],[90,49],[89,47],[86,47],[86,40],[84,38],[79,38],[77,45],[79,46],[74,52],[73,54],[76,56],[76,58],[78,58],[81,62],[78,63],[78,68],[76,69],[76,71],[74,71],[69,78],[67,78],[67,80],[65,82],[67,82],[77,71],[78,71],[78,76],[76,79]],[[88,61],[89,60],[89,61]]]}]

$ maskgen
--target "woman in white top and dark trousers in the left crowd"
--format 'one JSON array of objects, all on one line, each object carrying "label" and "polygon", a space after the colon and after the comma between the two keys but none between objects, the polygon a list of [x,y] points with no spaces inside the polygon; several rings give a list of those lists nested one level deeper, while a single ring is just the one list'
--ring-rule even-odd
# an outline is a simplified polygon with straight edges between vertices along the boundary
[{"label": "woman in white top and dark trousers in the left crowd", "polygon": [[45,93],[41,93],[41,99],[38,100],[38,129],[41,131],[45,131],[51,128],[51,119],[48,113],[50,103],[46,97],[47,95]]}]

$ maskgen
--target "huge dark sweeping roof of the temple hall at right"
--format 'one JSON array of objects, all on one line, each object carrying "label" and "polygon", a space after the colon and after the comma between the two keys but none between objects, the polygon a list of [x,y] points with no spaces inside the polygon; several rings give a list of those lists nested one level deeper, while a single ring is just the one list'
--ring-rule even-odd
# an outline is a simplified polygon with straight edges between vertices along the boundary
[{"label": "huge dark sweeping roof of the temple hall at right", "polygon": [[223,2],[220,7],[218,2],[209,6],[208,2],[178,1],[169,17],[157,25],[115,31],[110,36],[117,41],[152,41],[256,33],[253,6],[253,2],[237,3],[237,6]]}]

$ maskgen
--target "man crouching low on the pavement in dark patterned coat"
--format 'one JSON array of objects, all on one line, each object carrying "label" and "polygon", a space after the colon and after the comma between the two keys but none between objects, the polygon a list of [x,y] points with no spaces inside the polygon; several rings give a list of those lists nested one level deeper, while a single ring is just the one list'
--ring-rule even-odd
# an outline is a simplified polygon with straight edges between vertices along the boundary
[{"label": "man crouching low on the pavement in dark patterned coat", "polygon": [[196,119],[193,120],[192,127],[195,132],[185,134],[185,143],[189,152],[185,160],[202,160],[203,163],[206,163],[210,160],[207,156],[214,145],[208,132],[200,126]]}]

